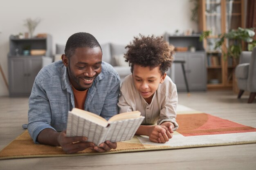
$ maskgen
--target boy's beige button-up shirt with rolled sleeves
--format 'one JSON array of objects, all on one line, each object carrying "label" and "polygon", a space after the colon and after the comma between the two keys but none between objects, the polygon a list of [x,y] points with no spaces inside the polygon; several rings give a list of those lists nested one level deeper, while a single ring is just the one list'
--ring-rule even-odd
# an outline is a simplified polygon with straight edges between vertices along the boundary
[{"label": "boy's beige button-up shirt with rolled sleeves", "polygon": [[148,104],[135,88],[132,74],[125,77],[120,88],[119,113],[139,110],[145,117],[142,124],[162,124],[170,121],[176,130],[177,88],[170,77],[166,76],[164,82],[159,84],[153,95],[152,102]]}]

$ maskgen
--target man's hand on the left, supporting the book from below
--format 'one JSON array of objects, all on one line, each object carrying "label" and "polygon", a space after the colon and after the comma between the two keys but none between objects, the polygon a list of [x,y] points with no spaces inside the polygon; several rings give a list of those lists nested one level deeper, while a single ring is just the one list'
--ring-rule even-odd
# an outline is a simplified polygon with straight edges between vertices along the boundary
[{"label": "man's hand on the left, supporting the book from below", "polygon": [[95,146],[92,142],[87,142],[86,137],[66,137],[66,131],[59,133],[57,141],[66,153],[76,153]]}]

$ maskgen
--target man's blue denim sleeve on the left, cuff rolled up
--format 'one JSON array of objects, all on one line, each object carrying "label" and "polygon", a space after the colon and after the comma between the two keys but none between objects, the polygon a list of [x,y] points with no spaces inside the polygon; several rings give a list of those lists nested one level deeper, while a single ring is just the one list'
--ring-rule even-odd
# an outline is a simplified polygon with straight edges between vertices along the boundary
[{"label": "man's blue denim sleeve on the left, cuff rolled up", "polygon": [[[34,143],[38,134],[45,128],[52,128],[50,124],[52,120],[51,108],[47,94],[42,88],[40,82],[35,80],[31,95],[29,97],[28,111],[28,131]],[[55,130],[55,129],[54,129]]]}]

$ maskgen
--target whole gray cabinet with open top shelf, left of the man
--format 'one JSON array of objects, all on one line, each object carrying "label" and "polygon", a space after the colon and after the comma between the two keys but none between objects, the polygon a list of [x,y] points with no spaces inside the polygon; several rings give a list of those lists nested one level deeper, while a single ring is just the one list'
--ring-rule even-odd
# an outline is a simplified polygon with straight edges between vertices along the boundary
[{"label": "whole gray cabinet with open top shelf, left of the man", "polygon": [[[8,53],[9,96],[29,96],[34,80],[43,67],[43,58],[52,57],[52,39],[46,38],[18,39],[10,36]],[[24,55],[25,46],[30,50],[45,50],[44,55]]]}]

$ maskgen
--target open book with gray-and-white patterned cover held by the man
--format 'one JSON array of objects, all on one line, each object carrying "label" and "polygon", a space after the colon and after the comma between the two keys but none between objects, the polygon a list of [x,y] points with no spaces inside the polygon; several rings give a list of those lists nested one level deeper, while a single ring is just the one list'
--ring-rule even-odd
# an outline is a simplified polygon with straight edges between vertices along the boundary
[{"label": "open book with gray-and-white patterned cover held by the man", "polygon": [[132,139],[144,118],[139,111],[133,111],[114,115],[107,121],[94,113],[73,108],[68,112],[66,136],[84,136],[96,145],[105,141],[127,141]]}]

